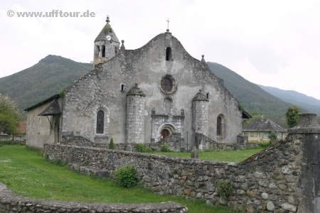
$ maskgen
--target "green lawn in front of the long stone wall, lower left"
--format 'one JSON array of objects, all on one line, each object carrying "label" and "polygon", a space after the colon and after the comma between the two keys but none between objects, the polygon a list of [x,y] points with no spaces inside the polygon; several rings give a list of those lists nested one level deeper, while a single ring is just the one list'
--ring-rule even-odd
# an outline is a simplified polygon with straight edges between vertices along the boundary
[{"label": "green lawn in front of the long stone wall, lower left", "polygon": [[188,212],[233,212],[201,201],[156,195],[139,186],[125,189],[112,180],[78,175],[69,171],[67,165],[58,166],[43,160],[41,152],[17,145],[0,147],[0,182],[17,195],[38,199],[105,203],[172,201],[186,205]]}]

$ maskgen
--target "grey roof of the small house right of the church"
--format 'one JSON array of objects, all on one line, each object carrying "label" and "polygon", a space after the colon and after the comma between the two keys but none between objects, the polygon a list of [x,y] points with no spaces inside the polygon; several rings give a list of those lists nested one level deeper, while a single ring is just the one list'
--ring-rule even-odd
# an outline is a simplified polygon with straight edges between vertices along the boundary
[{"label": "grey roof of the small house right of the church", "polygon": [[282,128],[278,124],[269,119],[256,119],[251,124],[245,126],[242,131],[275,131],[287,132],[287,129]]}]

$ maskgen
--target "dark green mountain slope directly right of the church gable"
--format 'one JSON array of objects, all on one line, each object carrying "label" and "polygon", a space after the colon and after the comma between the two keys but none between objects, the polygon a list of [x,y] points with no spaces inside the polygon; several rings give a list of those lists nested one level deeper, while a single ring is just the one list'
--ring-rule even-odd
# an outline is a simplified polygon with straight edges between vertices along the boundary
[{"label": "dark green mountain slope directly right of the church gable", "polygon": [[250,114],[263,114],[269,116],[274,122],[284,117],[287,108],[292,105],[282,99],[265,92],[264,89],[245,80],[237,73],[215,62],[207,62],[210,70],[217,77],[223,79],[225,87],[238,99],[242,107]]}]

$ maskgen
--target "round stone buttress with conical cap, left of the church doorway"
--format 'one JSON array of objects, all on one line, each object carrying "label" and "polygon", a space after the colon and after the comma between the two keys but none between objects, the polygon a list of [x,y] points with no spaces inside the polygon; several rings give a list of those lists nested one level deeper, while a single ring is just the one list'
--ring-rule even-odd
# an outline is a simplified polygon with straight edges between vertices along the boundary
[{"label": "round stone buttress with conical cap, left of the church doorway", "polygon": [[144,97],[136,83],[127,93],[126,143],[144,143]]}]

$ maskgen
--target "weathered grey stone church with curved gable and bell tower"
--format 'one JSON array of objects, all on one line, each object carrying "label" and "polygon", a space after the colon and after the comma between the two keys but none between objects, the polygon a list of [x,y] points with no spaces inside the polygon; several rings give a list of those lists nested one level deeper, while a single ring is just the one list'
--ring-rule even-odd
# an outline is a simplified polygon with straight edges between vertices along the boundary
[{"label": "weathered grey stone church with curved gable and bell tower", "polygon": [[[157,143],[195,134],[236,143],[245,114],[203,58],[193,58],[169,32],[126,50],[110,18],[95,38],[93,70],[63,92],[26,109],[27,146],[83,136],[93,143]],[[243,115],[243,116],[242,116]]]}]

